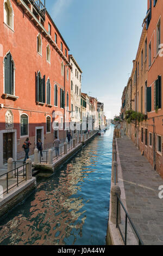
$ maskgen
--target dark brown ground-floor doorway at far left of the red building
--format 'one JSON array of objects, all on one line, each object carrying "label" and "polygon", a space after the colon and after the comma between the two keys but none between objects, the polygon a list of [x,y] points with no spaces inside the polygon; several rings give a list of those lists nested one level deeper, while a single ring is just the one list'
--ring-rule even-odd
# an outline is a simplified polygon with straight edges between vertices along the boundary
[{"label": "dark brown ground-floor doorway at far left of the red building", "polygon": [[13,158],[13,133],[3,133],[3,164]]}]

